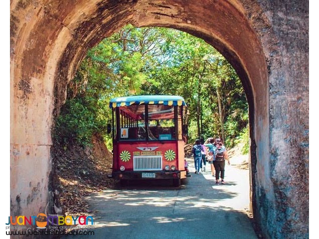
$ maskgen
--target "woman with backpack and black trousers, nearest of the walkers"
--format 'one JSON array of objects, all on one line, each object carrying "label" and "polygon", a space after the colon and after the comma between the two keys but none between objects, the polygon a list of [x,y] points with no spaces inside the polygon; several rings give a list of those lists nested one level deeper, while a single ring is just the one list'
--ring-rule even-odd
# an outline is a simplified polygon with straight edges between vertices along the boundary
[{"label": "woman with backpack and black trousers, nearest of the walkers", "polygon": [[213,161],[215,171],[216,171],[216,184],[219,184],[219,173],[220,173],[220,178],[221,184],[225,184],[224,181],[224,176],[225,176],[225,160],[228,161],[228,165],[230,165],[230,161],[228,158],[228,154],[226,151],[225,146],[221,142],[219,138],[216,139],[216,155],[215,155],[215,160]]}]

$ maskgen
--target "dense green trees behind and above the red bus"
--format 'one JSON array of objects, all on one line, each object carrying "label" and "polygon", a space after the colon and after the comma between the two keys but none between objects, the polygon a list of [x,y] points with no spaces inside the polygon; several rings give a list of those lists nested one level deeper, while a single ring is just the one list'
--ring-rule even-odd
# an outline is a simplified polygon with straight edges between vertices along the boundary
[{"label": "dense green trees behind and above the red bus", "polygon": [[69,83],[55,137],[86,145],[104,136],[109,100],[128,95],[180,95],[189,110],[188,140],[248,141],[248,104],[234,69],[213,47],[169,28],[126,26],[90,49]]}]

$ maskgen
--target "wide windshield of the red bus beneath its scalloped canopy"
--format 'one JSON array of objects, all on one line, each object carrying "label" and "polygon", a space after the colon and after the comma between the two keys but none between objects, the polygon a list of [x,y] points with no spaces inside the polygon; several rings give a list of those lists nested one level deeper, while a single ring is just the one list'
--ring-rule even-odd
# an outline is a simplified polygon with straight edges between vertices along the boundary
[{"label": "wide windshield of the red bus beneath its scalloped canopy", "polygon": [[133,104],[122,102],[122,105],[115,107],[113,111],[114,137],[118,141],[182,139],[181,107],[176,104],[163,104],[163,101],[161,104],[147,104],[145,101],[143,104],[141,101],[135,101]]}]

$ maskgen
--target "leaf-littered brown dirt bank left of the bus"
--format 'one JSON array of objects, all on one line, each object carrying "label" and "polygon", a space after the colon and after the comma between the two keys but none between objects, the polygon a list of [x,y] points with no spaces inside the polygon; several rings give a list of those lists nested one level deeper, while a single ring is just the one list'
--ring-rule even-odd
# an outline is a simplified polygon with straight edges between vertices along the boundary
[{"label": "leaf-littered brown dirt bank left of the bus", "polygon": [[108,177],[112,172],[112,153],[98,135],[93,137],[92,145],[83,148],[74,144],[54,144],[49,186],[54,194],[51,211],[65,215],[89,215],[89,205],[84,198],[93,192],[114,187],[114,180]]}]

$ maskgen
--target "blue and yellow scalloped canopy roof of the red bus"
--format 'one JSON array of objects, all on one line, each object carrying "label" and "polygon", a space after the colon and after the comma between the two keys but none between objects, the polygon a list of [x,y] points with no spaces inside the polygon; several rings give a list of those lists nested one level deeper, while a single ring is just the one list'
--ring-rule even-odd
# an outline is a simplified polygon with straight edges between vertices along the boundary
[{"label": "blue and yellow scalloped canopy roof of the red bus", "polygon": [[165,106],[186,106],[184,99],[180,96],[128,96],[113,98],[110,101],[110,108],[130,106],[133,104],[163,104]]}]

